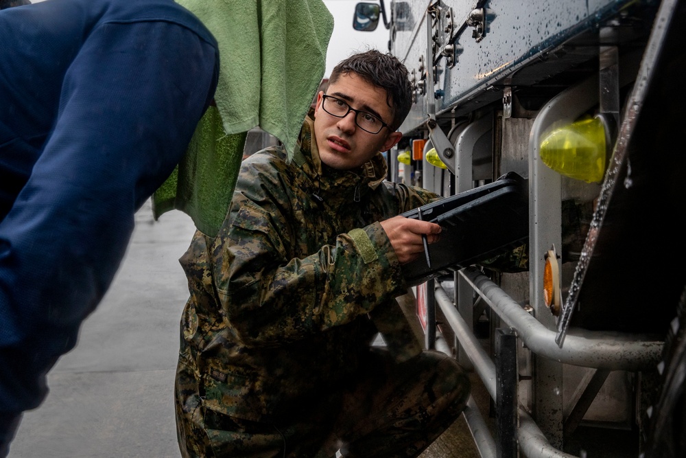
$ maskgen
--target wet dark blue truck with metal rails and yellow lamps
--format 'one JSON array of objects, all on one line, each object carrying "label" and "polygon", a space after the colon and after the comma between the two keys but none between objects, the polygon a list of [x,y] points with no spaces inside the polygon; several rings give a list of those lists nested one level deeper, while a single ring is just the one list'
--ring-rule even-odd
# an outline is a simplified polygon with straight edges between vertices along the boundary
[{"label": "wet dark blue truck with metal rails and yellow lamps", "polygon": [[414,289],[490,397],[464,411],[482,457],[686,457],[684,3],[355,6],[414,88],[389,179],[527,183],[520,247]]}]

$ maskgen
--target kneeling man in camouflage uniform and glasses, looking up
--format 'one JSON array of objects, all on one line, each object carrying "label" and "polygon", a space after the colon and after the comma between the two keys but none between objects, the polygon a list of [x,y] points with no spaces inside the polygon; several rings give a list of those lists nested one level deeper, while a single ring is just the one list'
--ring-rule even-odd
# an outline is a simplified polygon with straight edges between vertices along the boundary
[{"label": "kneeling man in camouflage uniform and glasses, looking up", "polygon": [[[294,158],[252,154],[220,232],[194,236],[180,259],[184,457],[416,457],[464,409],[464,371],[398,319],[401,264],[440,233],[397,216],[436,194],[384,180],[380,151],[411,100],[396,58],[340,62]],[[386,347],[370,346],[377,332]]]}]

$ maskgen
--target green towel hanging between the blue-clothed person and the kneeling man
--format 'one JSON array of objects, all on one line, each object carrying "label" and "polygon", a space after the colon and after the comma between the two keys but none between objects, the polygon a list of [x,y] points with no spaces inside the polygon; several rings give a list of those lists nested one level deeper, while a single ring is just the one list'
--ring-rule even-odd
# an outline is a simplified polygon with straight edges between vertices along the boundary
[{"label": "green towel hanging between the blue-clothed person and the kneeling man", "polygon": [[200,119],[184,159],[153,195],[155,219],[189,214],[209,236],[219,231],[243,157],[259,126],[289,157],[326,69],[333,16],[322,0],[177,0],[217,39],[216,108]]}]

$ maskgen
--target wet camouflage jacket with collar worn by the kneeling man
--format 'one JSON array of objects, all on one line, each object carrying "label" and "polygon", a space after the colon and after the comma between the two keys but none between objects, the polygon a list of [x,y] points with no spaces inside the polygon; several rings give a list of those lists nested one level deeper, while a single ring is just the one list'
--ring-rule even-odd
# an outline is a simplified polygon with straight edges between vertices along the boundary
[{"label": "wet camouflage jacket with collar worn by the kneeling man", "polygon": [[181,358],[206,408],[265,420],[335,389],[375,336],[368,313],[407,293],[379,221],[436,194],[384,181],[380,153],[322,165],[312,122],[292,161],[274,147],[243,162],[217,237],[196,233],[180,259]]}]

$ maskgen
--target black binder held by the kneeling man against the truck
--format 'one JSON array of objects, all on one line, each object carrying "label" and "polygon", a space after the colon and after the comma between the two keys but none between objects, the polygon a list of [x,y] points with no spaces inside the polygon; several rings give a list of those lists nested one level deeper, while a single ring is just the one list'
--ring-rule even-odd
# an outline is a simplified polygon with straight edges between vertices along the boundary
[{"label": "black binder held by the kneeling man against the truck", "polygon": [[493,183],[423,205],[402,214],[438,222],[440,240],[424,255],[403,265],[409,286],[447,275],[519,247],[529,237],[528,181],[508,172]]}]

